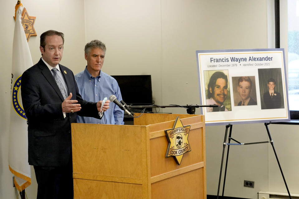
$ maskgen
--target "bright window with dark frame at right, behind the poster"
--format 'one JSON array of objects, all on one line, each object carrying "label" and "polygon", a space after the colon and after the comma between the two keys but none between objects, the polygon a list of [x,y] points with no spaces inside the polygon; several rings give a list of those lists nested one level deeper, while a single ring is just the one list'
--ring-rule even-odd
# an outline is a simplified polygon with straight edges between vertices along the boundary
[{"label": "bright window with dark frame at right, behind the poster", "polygon": [[290,115],[299,119],[299,0],[274,1],[275,27],[280,29],[275,47],[285,49]]}]

